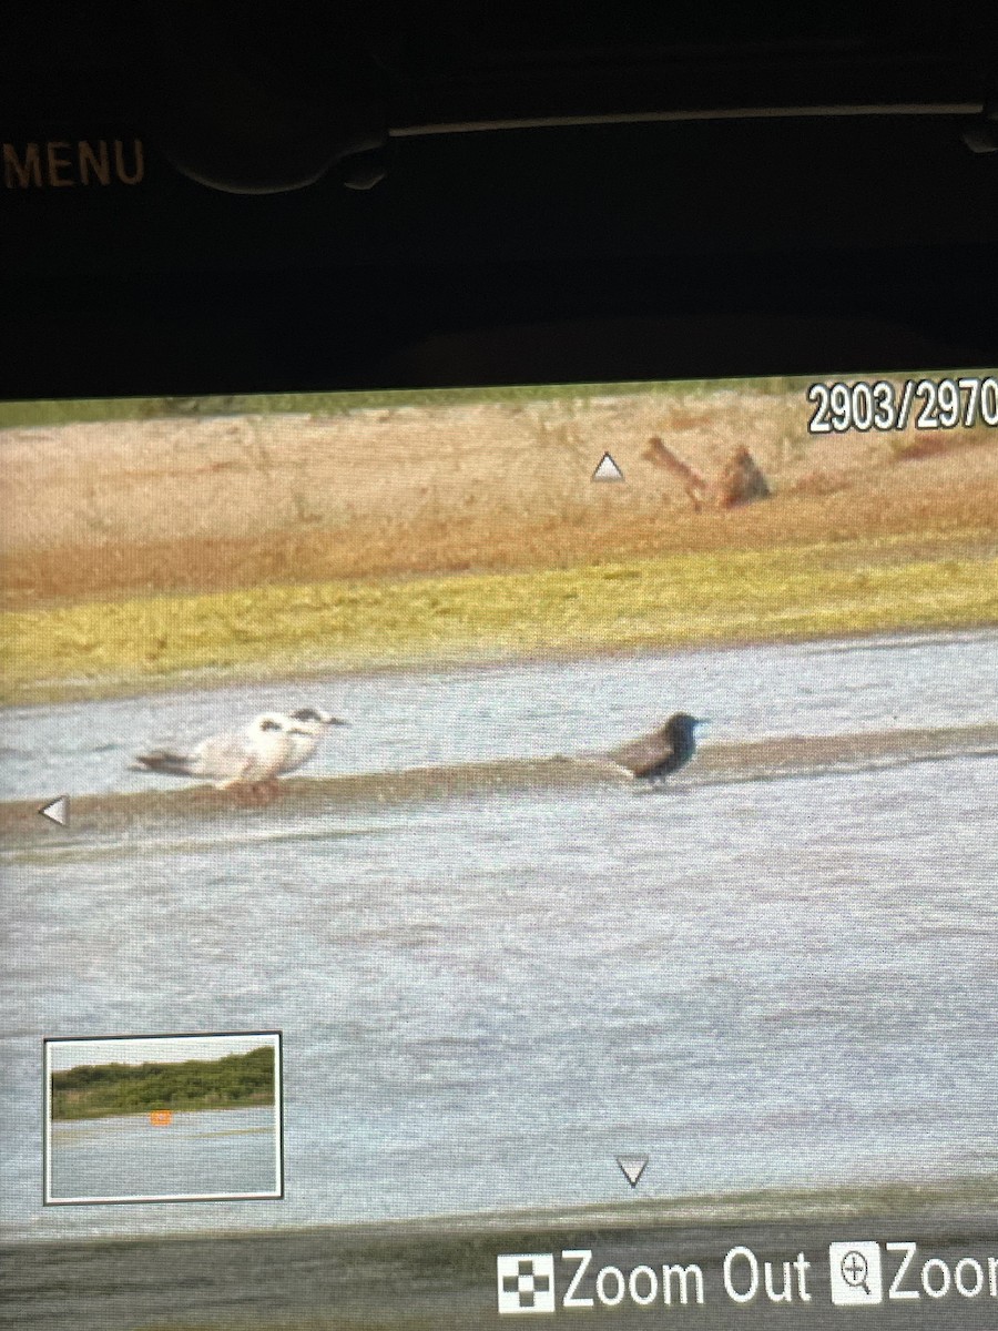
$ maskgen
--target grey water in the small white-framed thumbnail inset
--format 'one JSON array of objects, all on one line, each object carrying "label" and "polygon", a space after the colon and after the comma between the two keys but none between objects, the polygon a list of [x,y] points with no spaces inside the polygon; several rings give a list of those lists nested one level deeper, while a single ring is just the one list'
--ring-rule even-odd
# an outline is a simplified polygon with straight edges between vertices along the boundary
[{"label": "grey water in the small white-framed thumbnail inset", "polygon": [[281,1191],[274,1109],[56,1122],[49,1158],[53,1202]]}]

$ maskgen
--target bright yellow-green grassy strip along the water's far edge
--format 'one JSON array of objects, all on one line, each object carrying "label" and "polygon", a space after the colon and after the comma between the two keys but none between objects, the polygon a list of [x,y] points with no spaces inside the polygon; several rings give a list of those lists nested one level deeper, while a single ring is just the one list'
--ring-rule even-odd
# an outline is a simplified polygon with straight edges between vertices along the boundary
[{"label": "bright yellow-green grassy strip along the water's far edge", "polygon": [[9,611],[3,697],[998,623],[998,560],[919,554],[841,542]]}]

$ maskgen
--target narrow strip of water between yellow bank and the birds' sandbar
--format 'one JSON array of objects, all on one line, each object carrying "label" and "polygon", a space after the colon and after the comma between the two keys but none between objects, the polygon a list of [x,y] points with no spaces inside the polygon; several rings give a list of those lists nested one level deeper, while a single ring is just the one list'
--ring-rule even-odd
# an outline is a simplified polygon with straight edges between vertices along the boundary
[{"label": "narrow strip of water between yellow bank and the birds' sandbar", "polygon": [[711,719],[707,743],[998,720],[998,632],[869,638],[663,656],[309,679],[4,711],[0,800],[182,787],[132,756],[257,712],[325,705],[310,775],[612,748],[671,712]]}]

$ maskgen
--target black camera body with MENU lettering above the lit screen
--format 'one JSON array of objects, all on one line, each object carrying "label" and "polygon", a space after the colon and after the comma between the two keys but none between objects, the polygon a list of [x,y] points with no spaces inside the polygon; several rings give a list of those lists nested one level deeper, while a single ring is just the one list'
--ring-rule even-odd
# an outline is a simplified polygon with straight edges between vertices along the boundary
[{"label": "black camera body with MENU lettering above the lit screen", "polygon": [[986,15],[337,8],[9,11],[5,397],[994,359]]}]

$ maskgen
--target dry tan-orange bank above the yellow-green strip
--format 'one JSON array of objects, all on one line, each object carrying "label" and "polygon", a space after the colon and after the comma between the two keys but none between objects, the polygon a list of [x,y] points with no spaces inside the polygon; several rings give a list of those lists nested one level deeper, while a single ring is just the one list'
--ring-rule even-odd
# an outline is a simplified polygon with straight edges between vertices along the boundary
[{"label": "dry tan-orange bank above the yellow-green strip", "polygon": [[[24,607],[882,536],[993,547],[994,431],[900,467],[914,434],[813,438],[808,414],[800,395],[648,394],[11,430],[1,590]],[[777,494],[696,512],[643,455],[651,434],[708,476],[744,443]],[[607,449],[624,484],[589,482]]]}]

